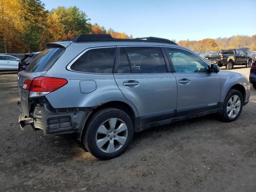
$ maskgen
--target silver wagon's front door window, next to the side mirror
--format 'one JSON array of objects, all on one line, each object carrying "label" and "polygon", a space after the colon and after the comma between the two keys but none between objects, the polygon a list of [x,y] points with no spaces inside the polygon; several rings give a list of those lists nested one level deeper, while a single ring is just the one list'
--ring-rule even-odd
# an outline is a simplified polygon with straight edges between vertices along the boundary
[{"label": "silver wagon's front door window, next to the side mirror", "polygon": [[182,49],[164,48],[176,73],[206,73],[209,65],[196,55]]}]

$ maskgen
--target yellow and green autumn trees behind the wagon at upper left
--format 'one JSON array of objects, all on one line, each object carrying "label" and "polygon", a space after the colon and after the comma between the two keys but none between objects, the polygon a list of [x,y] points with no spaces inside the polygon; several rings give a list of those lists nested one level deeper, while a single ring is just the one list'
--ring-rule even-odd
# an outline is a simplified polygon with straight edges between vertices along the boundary
[{"label": "yellow and green autumn trees behind the wagon at upper left", "polygon": [[133,38],[112,28],[106,30],[76,6],[50,11],[40,0],[0,0],[0,53],[26,53],[44,49],[48,42],[73,39],[79,34],[111,34]]}]

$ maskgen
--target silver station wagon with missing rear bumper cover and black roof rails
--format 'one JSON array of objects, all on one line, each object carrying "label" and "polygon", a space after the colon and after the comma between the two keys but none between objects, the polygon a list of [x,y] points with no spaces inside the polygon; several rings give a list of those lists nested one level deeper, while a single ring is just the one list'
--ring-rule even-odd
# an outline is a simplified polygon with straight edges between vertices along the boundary
[{"label": "silver station wagon with missing rear bumper cover and black roof rails", "polygon": [[88,34],[46,44],[18,73],[18,89],[20,126],[77,133],[104,160],[150,127],[206,114],[234,121],[250,97],[244,75],[220,71],[170,40]]}]

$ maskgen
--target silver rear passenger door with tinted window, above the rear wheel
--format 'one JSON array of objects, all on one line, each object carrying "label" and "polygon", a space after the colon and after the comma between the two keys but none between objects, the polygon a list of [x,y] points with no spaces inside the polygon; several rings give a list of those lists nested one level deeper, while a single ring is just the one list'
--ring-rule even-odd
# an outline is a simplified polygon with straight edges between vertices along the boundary
[{"label": "silver rear passenger door with tinted window, above the rear wheel", "polygon": [[141,125],[173,117],[177,84],[160,46],[118,47],[114,78],[137,108]]}]

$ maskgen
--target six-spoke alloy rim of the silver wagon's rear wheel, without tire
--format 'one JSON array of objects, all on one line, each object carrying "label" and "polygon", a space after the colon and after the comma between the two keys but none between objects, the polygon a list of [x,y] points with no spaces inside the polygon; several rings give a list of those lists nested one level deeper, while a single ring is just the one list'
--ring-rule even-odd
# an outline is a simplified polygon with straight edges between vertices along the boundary
[{"label": "six-spoke alloy rim of the silver wagon's rear wheel, without tire", "polygon": [[96,145],[105,153],[118,151],[125,144],[128,128],[123,120],[110,118],[96,132]]}]

